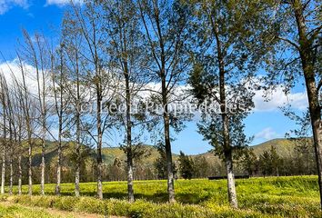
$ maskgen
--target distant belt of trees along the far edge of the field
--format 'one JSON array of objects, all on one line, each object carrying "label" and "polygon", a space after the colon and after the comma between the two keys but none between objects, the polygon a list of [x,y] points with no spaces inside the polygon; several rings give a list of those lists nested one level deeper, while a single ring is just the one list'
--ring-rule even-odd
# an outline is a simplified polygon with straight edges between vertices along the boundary
[{"label": "distant belt of trees along the far edge of the field", "polygon": [[[56,182],[56,162],[57,151],[56,145],[49,145],[46,142],[46,165],[45,165],[45,182]],[[39,144],[35,144],[39,146]],[[62,183],[75,182],[75,154],[71,149],[73,145],[66,146],[63,149],[62,166]],[[147,150],[147,149],[146,149]],[[297,145],[291,154],[278,154],[275,146],[263,154],[255,154],[253,149],[247,149],[239,158],[234,158],[234,172],[236,175],[249,176],[279,176],[279,175],[307,175],[316,174],[317,166],[314,161],[314,147],[312,144],[306,146]],[[193,179],[207,178],[211,176],[223,176],[226,174],[225,163],[212,154],[186,155],[182,152],[175,159],[174,173],[175,178]],[[34,154],[33,157],[33,177],[34,183],[40,183],[39,174],[41,173],[41,155]],[[150,155],[142,156],[139,160],[134,161],[134,180],[156,180],[166,179],[166,161],[165,156],[156,157],[151,163]],[[22,181],[27,181],[27,158],[25,155],[20,160]],[[19,160],[12,160],[14,166],[19,164]],[[6,163],[10,165],[10,155],[7,155]],[[125,181],[127,178],[126,160],[123,158],[106,157],[103,162],[103,181]],[[11,178],[13,176],[13,178]],[[14,185],[19,183],[19,168],[14,167],[13,174],[6,174],[5,181],[13,181]],[[96,181],[96,155],[95,151],[89,147],[84,147],[82,162],[80,166],[80,182]]]}]

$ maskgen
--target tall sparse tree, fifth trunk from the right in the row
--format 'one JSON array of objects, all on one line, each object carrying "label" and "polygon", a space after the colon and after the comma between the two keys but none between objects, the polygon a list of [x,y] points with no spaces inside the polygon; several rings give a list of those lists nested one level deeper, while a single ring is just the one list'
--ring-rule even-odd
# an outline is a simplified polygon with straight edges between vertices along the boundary
[{"label": "tall sparse tree, fifth trunk from the right in the row", "polygon": [[[90,84],[89,88],[95,92],[95,116],[89,122],[87,133],[91,135],[96,143],[96,163],[97,163],[97,196],[103,198],[102,185],[102,144],[103,135],[106,129],[112,126],[110,116],[106,108],[110,105],[117,87],[116,74],[107,69],[107,55],[105,53],[107,36],[103,31],[102,21],[100,19],[101,6],[93,2],[86,2],[86,7],[73,5],[74,22],[77,24],[81,35],[83,36],[81,56],[86,59],[86,64],[82,68],[86,71],[86,80]],[[90,131],[92,130],[92,131]]]}]

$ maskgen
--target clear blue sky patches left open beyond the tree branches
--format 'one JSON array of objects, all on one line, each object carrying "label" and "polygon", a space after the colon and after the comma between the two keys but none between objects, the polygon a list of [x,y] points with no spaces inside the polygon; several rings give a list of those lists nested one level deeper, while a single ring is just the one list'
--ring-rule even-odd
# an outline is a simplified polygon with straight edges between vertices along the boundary
[{"label": "clear blue sky patches left open beyond the tree branches", "polygon": [[[4,54],[5,60],[15,59],[15,48],[17,40],[21,39],[22,28],[30,34],[38,31],[55,37],[64,15],[66,2],[68,0],[0,0],[0,51]],[[0,58],[0,64],[3,62],[3,58]],[[285,96],[282,90],[277,90],[272,95],[272,101],[268,103],[264,102],[261,95],[260,92],[256,94],[256,108],[245,121],[246,134],[255,136],[252,144],[284,137],[289,130],[296,128],[295,124],[280,112],[278,106],[290,100],[297,111],[304,110],[307,106],[306,94],[301,85],[297,85],[293,93],[288,96]],[[176,141],[173,143],[173,152],[176,154],[180,150],[186,154],[200,154],[209,149],[211,146],[196,132],[196,122],[187,123],[186,129],[176,135]]]}]

